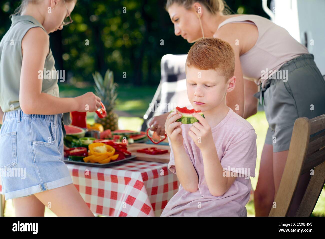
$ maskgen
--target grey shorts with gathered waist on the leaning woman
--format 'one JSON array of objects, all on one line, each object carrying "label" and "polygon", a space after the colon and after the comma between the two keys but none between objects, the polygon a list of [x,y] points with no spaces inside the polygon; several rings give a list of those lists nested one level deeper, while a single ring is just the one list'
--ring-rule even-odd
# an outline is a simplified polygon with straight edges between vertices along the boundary
[{"label": "grey shorts with gathered waist on the leaning woman", "polygon": [[272,144],[273,152],[289,150],[297,118],[312,119],[325,114],[325,80],[312,54],[288,61],[279,71],[282,71],[282,77],[269,80],[268,88],[263,92],[269,124],[265,144]]}]

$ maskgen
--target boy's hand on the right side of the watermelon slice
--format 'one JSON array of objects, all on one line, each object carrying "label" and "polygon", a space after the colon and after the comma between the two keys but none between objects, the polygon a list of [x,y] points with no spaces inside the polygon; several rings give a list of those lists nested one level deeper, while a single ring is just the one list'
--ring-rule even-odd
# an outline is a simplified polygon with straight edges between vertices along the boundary
[{"label": "boy's hand on the right side of the watermelon slice", "polygon": [[[198,113],[193,113],[199,122],[195,122],[188,131],[188,135],[194,140],[195,144],[201,149],[209,149],[214,146],[211,127],[205,118]],[[215,146],[214,146],[215,147]]]}]

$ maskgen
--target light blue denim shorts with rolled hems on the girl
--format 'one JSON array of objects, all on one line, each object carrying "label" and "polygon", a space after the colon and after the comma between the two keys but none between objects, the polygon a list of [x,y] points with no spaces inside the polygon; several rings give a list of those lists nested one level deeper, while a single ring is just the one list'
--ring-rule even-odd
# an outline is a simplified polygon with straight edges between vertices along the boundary
[{"label": "light blue denim shorts with rolled hems on the girl", "polygon": [[0,178],[6,200],[72,183],[63,162],[62,114],[5,112],[0,130]]}]

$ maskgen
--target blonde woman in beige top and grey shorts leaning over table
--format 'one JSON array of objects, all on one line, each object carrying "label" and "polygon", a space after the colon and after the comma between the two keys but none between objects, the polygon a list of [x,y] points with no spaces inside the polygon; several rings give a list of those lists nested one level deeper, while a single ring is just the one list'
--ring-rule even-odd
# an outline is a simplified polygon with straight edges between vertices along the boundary
[{"label": "blonde woman in beige top and grey shorts leaning over table", "polygon": [[[227,15],[225,6],[222,0],[167,0],[165,8],[175,35],[189,43],[204,37],[220,38],[233,47],[237,81],[226,102],[234,112],[246,119],[257,112],[256,98],[264,104],[269,128],[254,203],[256,216],[268,216],[287,160],[294,121],[325,113],[325,82],[314,56],[288,31],[260,16]],[[281,77],[270,74],[272,71]],[[149,123],[158,134],[165,132],[168,114]],[[295,215],[310,177],[308,173],[302,176],[289,216]]]}]

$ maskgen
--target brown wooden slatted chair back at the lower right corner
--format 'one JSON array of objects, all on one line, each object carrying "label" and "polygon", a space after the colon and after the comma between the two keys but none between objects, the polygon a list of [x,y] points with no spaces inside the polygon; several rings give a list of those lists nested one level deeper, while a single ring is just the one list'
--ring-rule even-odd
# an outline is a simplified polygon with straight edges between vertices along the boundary
[{"label": "brown wooden slatted chair back at the lower right corner", "polygon": [[[325,183],[325,114],[313,119],[296,119],[289,154],[284,167],[276,207],[269,217],[288,215],[301,175],[314,170],[296,217],[310,217]],[[312,137],[311,137],[312,136]]]}]

